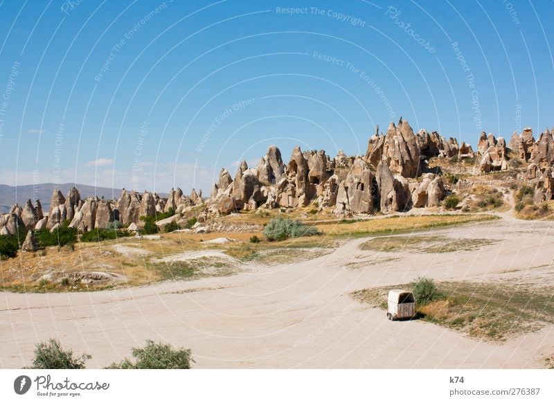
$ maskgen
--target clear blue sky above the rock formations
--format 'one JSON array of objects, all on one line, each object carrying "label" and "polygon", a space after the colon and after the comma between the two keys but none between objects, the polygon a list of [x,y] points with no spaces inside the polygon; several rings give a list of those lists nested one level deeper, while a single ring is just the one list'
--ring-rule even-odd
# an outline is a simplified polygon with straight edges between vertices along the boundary
[{"label": "clear blue sky above the rock formations", "polygon": [[551,0],[0,0],[0,182],[207,195],[271,144],[363,154],[400,116],[472,144],[538,134],[553,16]]}]

